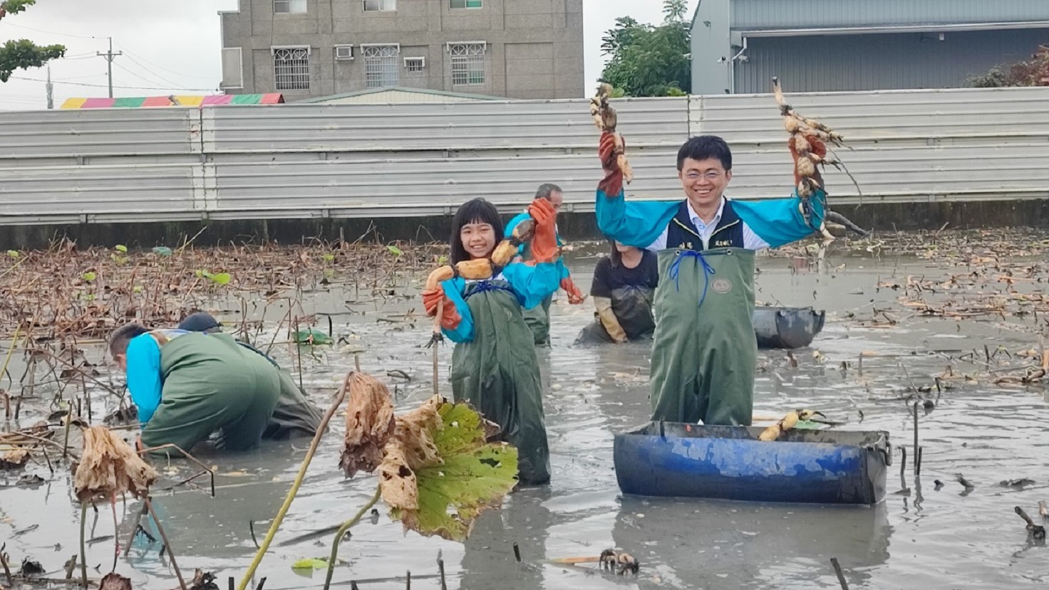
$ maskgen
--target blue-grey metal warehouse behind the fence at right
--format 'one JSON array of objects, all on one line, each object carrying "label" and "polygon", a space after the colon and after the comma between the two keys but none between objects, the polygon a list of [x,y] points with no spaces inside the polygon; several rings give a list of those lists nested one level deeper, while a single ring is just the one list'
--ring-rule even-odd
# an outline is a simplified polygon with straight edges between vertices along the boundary
[{"label": "blue-grey metal warehouse behind the fence at right", "polygon": [[958,88],[1047,41],[1047,0],[701,0],[692,92]]}]

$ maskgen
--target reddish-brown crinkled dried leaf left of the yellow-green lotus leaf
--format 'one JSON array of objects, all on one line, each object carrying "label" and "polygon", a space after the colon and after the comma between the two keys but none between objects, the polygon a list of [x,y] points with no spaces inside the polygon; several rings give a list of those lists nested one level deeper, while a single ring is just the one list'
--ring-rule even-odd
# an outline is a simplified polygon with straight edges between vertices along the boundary
[{"label": "reddish-brown crinkled dried leaf left of the yellow-green lotus leaf", "polygon": [[347,477],[376,471],[393,428],[393,402],[386,386],[366,373],[350,375],[345,446],[340,461]]}]

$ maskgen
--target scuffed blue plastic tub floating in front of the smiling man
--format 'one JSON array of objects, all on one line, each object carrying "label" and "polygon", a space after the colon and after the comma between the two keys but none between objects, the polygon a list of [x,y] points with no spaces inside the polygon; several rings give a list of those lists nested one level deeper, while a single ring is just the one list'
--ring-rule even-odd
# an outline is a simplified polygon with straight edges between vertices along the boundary
[{"label": "scuffed blue plastic tub floating in front of the smiling man", "polygon": [[623,494],[751,502],[876,504],[892,464],[889,433],[649,422],[615,437]]}]

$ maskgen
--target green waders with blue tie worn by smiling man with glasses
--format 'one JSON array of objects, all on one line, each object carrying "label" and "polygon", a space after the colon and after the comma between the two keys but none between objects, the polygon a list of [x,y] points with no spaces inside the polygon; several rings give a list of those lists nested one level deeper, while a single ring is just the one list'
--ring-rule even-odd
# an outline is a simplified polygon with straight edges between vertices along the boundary
[{"label": "green waders with blue tie worn by smiling man with glasses", "polygon": [[652,420],[750,425],[757,343],[754,253],[659,253]]}]

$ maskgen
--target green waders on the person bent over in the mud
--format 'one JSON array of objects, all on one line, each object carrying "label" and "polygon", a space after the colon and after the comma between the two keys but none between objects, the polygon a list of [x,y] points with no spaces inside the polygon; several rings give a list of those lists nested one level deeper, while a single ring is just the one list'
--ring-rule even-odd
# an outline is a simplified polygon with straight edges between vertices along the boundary
[{"label": "green waders on the person bent over in the mud", "polygon": [[147,446],[174,443],[190,451],[221,429],[219,446],[252,449],[280,397],[277,368],[229,334],[172,338],[160,347],[160,406],[142,430]]}]

